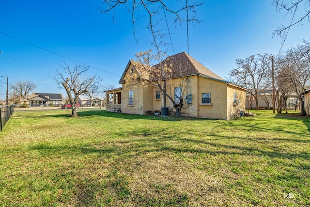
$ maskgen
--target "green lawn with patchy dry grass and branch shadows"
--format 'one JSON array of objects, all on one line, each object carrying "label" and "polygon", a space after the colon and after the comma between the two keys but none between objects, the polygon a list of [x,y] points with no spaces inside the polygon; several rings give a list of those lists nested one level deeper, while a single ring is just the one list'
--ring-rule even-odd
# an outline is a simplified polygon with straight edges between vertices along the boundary
[{"label": "green lawn with patchy dry grass and branch shadows", "polygon": [[0,206],[310,206],[310,119],[16,111]]}]

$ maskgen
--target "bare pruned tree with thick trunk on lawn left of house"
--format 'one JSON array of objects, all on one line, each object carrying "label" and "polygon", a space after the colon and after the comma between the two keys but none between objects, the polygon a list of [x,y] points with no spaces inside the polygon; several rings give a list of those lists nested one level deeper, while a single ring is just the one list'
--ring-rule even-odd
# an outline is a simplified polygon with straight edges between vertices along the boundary
[{"label": "bare pruned tree with thick trunk on lawn left of house", "polygon": [[99,77],[96,75],[89,76],[87,74],[89,66],[86,64],[76,63],[73,67],[65,64],[60,65],[59,69],[50,76],[56,80],[59,88],[64,88],[70,103],[72,105],[72,116],[77,116],[77,102],[78,96],[86,94],[91,88],[92,84],[98,82]]}]

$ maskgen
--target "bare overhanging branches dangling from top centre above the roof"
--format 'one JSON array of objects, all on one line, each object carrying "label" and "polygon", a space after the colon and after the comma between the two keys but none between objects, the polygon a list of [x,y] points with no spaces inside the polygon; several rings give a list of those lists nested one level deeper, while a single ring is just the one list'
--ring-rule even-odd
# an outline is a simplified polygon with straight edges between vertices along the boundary
[{"label": "bare overhanging branches dangling from top centre above the roof", "polygon": [[[187,46],[188,46],[188,23],[197,24],[200,21],[196,17],[196,7],[201,6],[204,2],[194,2],[191,0],[186,1],[171,1],[171,0],[102,0],[101,9],[103,13],[113,12],[113,21],[115,20],[115,10],[120,6],[125,6],[131,14],[131,21],[133,25],[133,34],[136,41],[136,26],[140,18],[146,17],[148,25],[146,28],[151,32],[153,40],[152,44],[157,49],[163,45],[169,45],[168,41],[164,41],[164,37],[168,35],[171,42],[171,32],[168,19],[174,19],[173,23],[176,27],[177,24],[186,23],[187,27]],[[160,24],[163,22],[164,24]],[[159,27],[159,25],[167,25],[167,28]],[[173,46],[172,46],[173,49]],[[188,51],[187,51],[188,53]]]}]

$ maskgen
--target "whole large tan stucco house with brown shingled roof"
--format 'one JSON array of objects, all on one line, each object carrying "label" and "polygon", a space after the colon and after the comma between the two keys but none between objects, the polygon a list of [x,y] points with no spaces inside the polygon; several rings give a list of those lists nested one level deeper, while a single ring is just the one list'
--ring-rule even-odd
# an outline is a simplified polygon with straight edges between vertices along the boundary
[{"label": "whole large tan stucco house with brown shingled roof", "polygon": [[[175,102],[180,100],[180,96],[184,97],[182,116],[229,120],[245,110],[245,88],[223,80],[185,52],[168,57],[164,64],[171,64],[172,72],[171,80],[166,82],[167,93]],[[128,85],[125,77],[133,74],[142,77],[137,71],[137,63],[129,61],[119,81],[122,87],[106,91],[107,111],[132,114],[160,112],[165,106],[160,91],[149,84]],[[184,84],[180,84],[182,82]],[[166,106],[171,114],[175,114],[168,98]]]}]

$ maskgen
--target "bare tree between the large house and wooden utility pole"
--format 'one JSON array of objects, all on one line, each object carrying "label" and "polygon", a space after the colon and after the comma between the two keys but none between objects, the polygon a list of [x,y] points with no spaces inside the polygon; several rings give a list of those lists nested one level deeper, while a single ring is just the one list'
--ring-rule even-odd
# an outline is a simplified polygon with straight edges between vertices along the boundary
[{"label": "bare tree between the large house and wooden utility pole", "polygon": [[237,59],[238,68],[230,72],[234,83],[243,86],[248,93],[255,98],[256,109],[259,110],[258,96],[265,82],[270,79],[271,55],[251,55],[246,59]]}]

